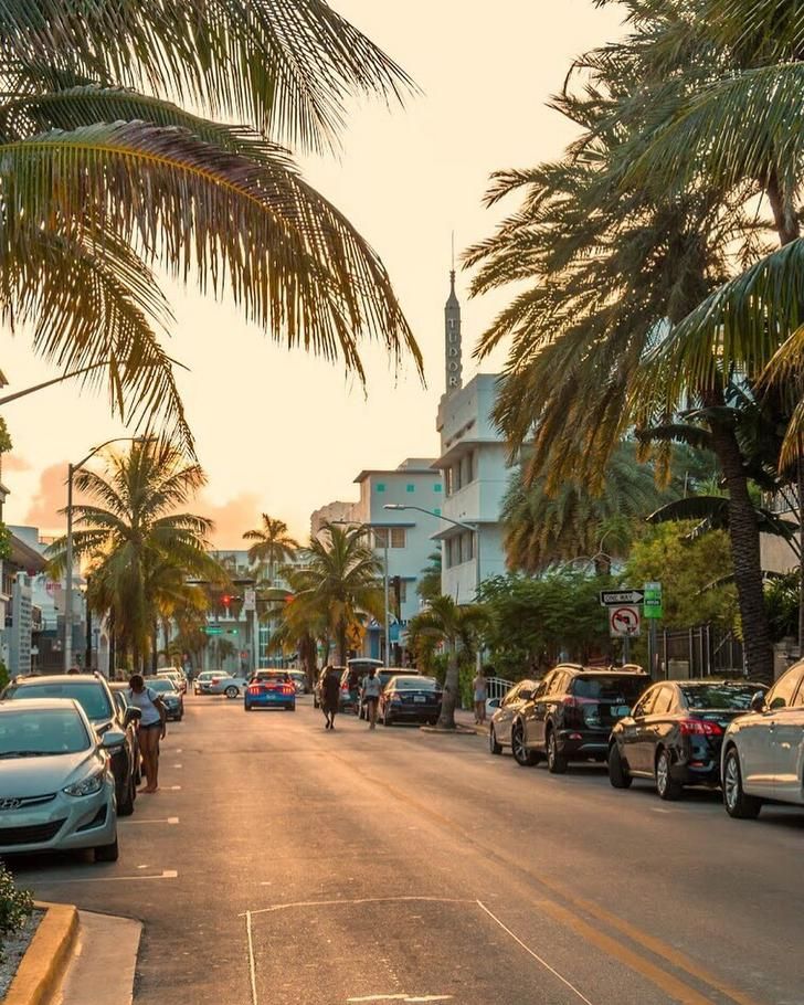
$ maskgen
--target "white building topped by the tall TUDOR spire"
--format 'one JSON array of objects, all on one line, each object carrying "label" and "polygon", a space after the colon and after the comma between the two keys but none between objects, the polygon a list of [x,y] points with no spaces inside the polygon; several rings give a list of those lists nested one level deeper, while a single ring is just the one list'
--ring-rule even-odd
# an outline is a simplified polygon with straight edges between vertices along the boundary
[{"label": "white building topped by the tall TUDOR spire", "polygon": [[435,537],[443,542],[442,592],[457,603],[470,603],[478,582],[506,571],[500,511],[510,468],[505,441],[491,421],[498,374],[479,373],[462,384],[461,304],[454,272],[451,284],[444,309],[446,392],[436,422],[441,456],[434,464],[443,476],[445,519]]}]

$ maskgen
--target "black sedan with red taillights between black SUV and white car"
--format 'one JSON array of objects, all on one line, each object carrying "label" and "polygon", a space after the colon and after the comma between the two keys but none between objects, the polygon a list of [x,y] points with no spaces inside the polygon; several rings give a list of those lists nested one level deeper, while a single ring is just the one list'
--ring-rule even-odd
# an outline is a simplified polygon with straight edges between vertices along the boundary
[{"label": "black sedan with red taillights between black SUV and white car", "polygon": [[726,729],[763,690],[745,680],[655,684],[612,730],[612,785],[627,789],[635,777],[650,779],[663,800],[677,800],[685,785],[717,787]]}]

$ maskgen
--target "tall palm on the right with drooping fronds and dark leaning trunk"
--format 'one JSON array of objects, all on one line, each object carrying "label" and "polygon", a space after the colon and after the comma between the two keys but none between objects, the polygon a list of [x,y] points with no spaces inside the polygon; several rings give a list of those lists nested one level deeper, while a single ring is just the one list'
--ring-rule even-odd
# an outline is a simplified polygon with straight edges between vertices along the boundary
[{"label": "tall palm on the right with drooping fronds and dark leaning trunk", "polygon": [[579,61],[554,103],[581,128],[580,138],[557,163],[497,177],[488,201],[518,193],[522,204],[467,262],[480,266],[475,293],[527,283],[478,355],[510,340],[495,416],[512,451],[531,442],[528,474],[547,475],[549,491],[567,477],[597,489],[634,424],[671,423],[683,408],[709,410],[728,489],[747,658],[753,675],[770,680],[760,529],[740,444],[720,412],[731,371],[712,340],[696,346],[697,372],[667,355],[677,328],[701,304],[710,331],[718,325],[722,331],[722,313],[707,297],[734,262],[757,257],[763,235],[745,188],[718,178],[656,186],[631,171],[657,119],[711,72],[700,50],[688,60],[689,45],[676,44],[688,21],[698,23],[687,18],[696,4],[624,3],[631,35]]}]

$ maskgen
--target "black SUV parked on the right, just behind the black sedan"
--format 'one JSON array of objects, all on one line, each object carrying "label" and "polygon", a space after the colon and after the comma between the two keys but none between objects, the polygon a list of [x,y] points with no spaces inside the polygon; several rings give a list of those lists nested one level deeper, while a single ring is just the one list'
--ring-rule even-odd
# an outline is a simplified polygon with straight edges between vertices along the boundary
[{"label": "black SUV parked on the right, just behind the black sedan", "polygon": [[569,761],[605,761],[612,727],[631,713],[649,684],[638,667],[557,666],[511,726],[517,763],[537,764],[546,757],[548,769],[563,774]]}]

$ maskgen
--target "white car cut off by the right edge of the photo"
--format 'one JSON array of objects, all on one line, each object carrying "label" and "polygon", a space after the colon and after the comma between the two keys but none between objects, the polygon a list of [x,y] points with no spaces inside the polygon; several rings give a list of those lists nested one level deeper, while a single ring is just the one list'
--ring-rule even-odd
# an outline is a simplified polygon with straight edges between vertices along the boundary
[{"label": "white car cut off by the right edge of the photo", "polygon": [[752,819],[765,801],[804,805],[804,659],[730,723],[720,763],[729,816]]}]

